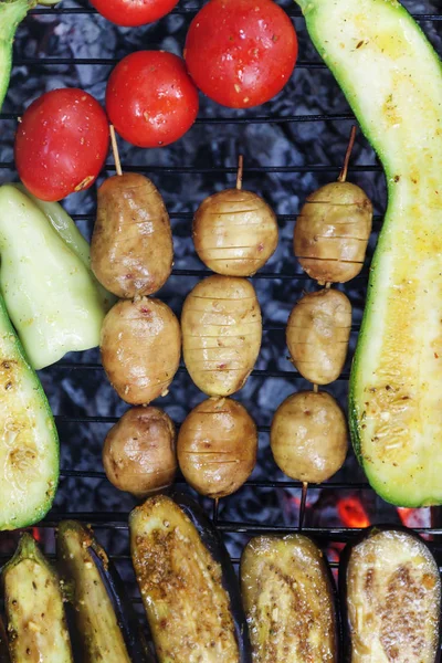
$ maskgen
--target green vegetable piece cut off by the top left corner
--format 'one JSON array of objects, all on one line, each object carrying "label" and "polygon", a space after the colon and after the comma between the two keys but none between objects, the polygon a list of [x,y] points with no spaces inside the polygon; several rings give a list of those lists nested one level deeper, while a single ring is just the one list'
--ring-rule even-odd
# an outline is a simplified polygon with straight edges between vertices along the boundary
[{"label": "green vegetable piece cut off by the top left corner", "polygon": [[8,92],[15,30],[36,0],[0,1],[0,109]]}]

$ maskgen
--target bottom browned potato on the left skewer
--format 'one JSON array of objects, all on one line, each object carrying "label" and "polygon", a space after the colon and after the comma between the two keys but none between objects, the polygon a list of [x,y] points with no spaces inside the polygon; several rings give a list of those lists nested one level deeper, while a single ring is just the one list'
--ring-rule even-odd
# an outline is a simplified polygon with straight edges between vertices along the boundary
[{"label": "bottom browned potato on the left skewer", "polygon": [[137,497],[167,488],[177,473],[173,422],[159,408],[131,408],[107,433],[103,465],[116,488]]}]

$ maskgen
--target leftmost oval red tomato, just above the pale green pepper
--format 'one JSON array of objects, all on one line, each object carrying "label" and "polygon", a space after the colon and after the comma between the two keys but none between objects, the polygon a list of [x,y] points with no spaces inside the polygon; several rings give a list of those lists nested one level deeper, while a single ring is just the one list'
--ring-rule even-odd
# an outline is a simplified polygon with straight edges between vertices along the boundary
[{"label": "leftmost oval red tomato, just above the pale green pepper", "polygon": [[106,114],[77,88],[53,90],[25,110],[15,135],[15,165],[23,185],[41,200],[88,189],[109,147]]}]

